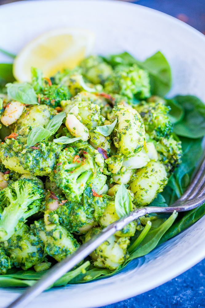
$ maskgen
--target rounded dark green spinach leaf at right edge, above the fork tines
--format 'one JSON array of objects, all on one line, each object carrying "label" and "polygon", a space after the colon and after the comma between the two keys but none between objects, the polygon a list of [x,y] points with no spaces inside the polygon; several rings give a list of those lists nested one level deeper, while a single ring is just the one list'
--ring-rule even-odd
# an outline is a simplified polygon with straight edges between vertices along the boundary
[{"label": "rounded dark green spinach leaf at right edge, above the fork tines", "polygon": [[175,124],[174,132],[188,138],[201,138],[205,135],[205,104],[193,95],[177,95],[174,100],[183,107],[183,119]]}]

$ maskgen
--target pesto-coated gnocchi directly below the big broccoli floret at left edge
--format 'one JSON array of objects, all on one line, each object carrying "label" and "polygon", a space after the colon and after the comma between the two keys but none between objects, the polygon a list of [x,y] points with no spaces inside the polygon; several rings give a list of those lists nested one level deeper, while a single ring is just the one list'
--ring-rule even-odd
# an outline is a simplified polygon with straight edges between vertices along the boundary
[{"label": "pesto-coated gnocchi directly below the big broccoli floret at left edge", "polygon": [[43,242],[27,225],[23,225],[3,244],[12,264],[21,266],[23,270],[41,263],[45,257]]}]

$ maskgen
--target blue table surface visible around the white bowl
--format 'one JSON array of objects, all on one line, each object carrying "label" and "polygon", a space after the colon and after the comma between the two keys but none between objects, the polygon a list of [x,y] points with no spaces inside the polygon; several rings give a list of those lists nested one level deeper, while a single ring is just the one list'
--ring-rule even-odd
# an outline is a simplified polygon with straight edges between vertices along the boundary
[{"label": "blue table surface visible around the white bowl", "polygon": [[[8,2],[14,1],[0,0],[0,4]],[[205,34],[205,0],[139,0],[134,3],[174,16]],[[205,259],[158,288],[105,307],[204,308]]]}]

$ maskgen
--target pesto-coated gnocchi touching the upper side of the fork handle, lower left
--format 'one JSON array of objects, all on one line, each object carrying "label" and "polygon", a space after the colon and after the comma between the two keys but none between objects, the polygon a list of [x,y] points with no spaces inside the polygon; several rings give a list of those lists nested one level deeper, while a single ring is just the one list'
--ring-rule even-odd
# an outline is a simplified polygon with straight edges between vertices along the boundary
[{"label": "pesto-coated gnocchi touching the upper side of the fork handle, lower left", "polygon": [[45,221],[35,221],[31,229],[43,241],[45,253],[60,262],[73,253],[79,244],[71,233],[59,225],[57,214],[46,213],[45,218]]}]

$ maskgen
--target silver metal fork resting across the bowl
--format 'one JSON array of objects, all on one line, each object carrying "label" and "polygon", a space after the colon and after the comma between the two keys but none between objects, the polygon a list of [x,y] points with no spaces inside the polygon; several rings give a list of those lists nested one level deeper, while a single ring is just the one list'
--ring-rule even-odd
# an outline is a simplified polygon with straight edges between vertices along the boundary
[{"label": "silver metal fork resting across the bowl", "polygon": [[101,245],[104,241],[113,235],[116,231],[121,230],[124,226],[128,225],[131,221],[136,220],[140,216],[149,213],[172,213],[174,210],[177,212],[184,212],[202,205],[205,202],[205,153],[199,167],[196,169],[195,175],[186,192],[169,207],[156,207],[148,206],[137,209],[118,221],[112,223],[100,233],[95,235],[91,240],[81,245],[72,255],[66,257],[61,262],[54,265],[45,275],[42,276],[33,286],[26,289],[26,291],[19,296],[6,308],[24,307],[31,302],[36,296],[41,294],[49,286],[51,286],[58,278],[71,270],[81,260],[87,257],[94,249]]}]

